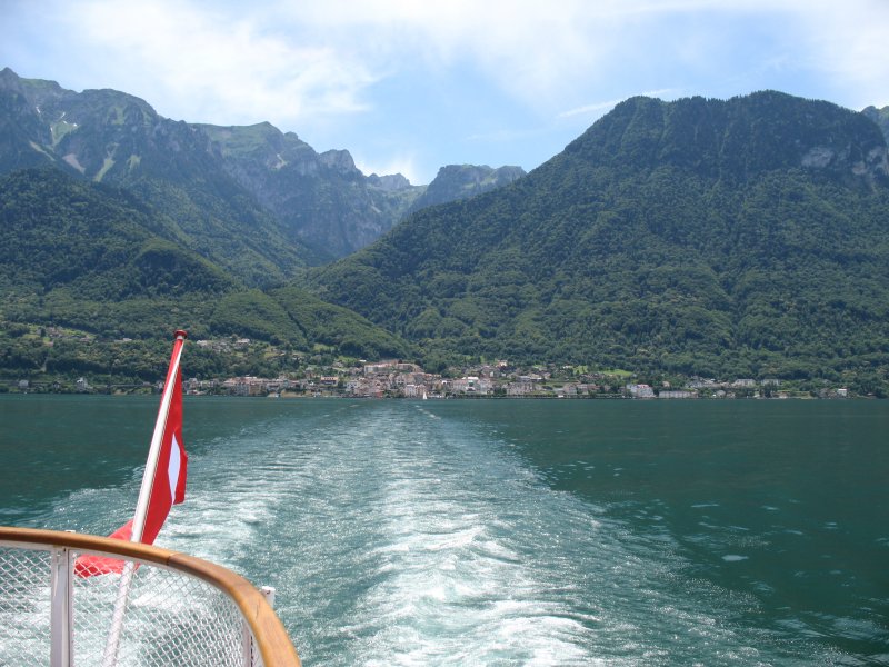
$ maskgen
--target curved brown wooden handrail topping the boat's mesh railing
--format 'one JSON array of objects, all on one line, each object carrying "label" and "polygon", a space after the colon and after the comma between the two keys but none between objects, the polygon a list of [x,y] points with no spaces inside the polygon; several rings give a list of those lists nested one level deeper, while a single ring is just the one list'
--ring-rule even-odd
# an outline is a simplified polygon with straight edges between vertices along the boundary
[{"label": "curved brown wooden handrail topping the boat's mesh railing", "polygon": [[80,532],[0,526],[0,542],[16,546],[49,545],[102,556],[122,556],[152,563],[197,577],[214,586],[238,606],[253,633],[266,667],[300,667],[297,649],[283,624],[263,595],[247,579],[209,560],[152,545]]}]

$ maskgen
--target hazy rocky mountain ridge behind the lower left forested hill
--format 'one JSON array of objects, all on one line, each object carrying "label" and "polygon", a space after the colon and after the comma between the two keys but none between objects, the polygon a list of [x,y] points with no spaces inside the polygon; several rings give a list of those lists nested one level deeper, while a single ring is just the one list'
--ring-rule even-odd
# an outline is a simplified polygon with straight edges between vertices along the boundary
[{"label": "hazy rocky mountain ridge behind the lower left forested hill", "polygon": [[[210,206],[213,229],[188,222],[194,248],[206,252],[211,237],[253,233],[247,247],[213,259],[257,285],[261,272],[280,281],[368,245],[414,210],[427,189],[401,175],[364,176],[348,150],[319,153],[269,122],[173,121],[124,92],[78,93],[9,68],[0,72],[0,172],[52,163],[139,189],[160,207],[170,200]],[[241,221],[248,225],[239,230]]]}]

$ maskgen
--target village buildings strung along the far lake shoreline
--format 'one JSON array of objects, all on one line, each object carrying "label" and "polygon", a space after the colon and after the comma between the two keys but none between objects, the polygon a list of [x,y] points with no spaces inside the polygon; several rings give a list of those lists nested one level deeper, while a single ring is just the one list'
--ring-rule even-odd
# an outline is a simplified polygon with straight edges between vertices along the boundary
[{"label": "village buildings strung along the far lake shoreline", "polygon": [[[506,360],[467,366],[450,374],[426,372],[417,364],[401,360],[356,365],[333,362],[309,366],[299,374],[277,378],[241,376],[214,379],[183,379],[190,396],[241,396],[274,398],[526,398],[526,399],[787,399],[852,398],[843,387],[828,382],[807,386],[778,380],[736,378],[662,379],[641,378],[623,370],[592,371],[586,367],[513,367]],[[90,382],[79,378],[73,384],[53,381],[10,382],[0,390],[27,394],[144,394],[160,391],[162,381],[140,385]]]}]

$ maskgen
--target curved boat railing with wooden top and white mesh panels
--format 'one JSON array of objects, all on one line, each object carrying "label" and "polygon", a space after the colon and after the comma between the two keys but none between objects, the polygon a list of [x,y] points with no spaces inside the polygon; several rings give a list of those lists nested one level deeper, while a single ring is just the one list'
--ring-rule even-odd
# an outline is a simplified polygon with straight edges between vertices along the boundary
[{"label": "curved boat railing with wooden top and white mesh panels", "polygon": [[[109,634],[123,575],[80,576],[80,556],[136,568],[113,650]],[[47,664],[298,667],[300,660],[266,595],[222,566],[106,537],[0,526],[0,665]]]}]

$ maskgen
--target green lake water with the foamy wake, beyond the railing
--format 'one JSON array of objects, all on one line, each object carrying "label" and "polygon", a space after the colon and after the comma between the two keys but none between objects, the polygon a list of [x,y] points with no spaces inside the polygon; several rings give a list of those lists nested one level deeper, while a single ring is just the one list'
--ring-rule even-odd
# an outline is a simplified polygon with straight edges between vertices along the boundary
[{"label": "green lake water with the foamy wake, beyond the railing", "polygon": [[[0,397],[0,524],[130,518],[158,398]],[[889,665],[889,402],[187,397],[158,545],[306,665]]]}]

